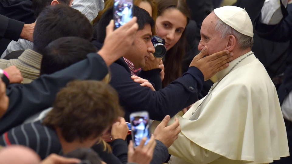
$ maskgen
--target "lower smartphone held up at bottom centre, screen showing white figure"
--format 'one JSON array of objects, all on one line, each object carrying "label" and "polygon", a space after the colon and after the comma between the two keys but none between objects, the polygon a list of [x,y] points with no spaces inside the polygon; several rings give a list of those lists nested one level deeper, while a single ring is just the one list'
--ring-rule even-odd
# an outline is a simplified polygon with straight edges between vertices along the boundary
[{"label": "lower smartphone held up at bottom centre, screen showing white figure", "polygon": [[145,145],[150,139],[149,114],[147,111],[134,112],[130,114],[132,140],[134,147],[140,145],[143,137],[147,137]]}]

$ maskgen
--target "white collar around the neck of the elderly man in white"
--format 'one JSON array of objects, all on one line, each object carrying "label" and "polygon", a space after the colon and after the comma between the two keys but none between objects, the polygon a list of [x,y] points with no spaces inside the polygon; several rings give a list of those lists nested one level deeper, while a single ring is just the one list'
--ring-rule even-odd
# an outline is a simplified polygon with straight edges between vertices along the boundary
[{"label": "white collar around the neck of the elderly man in white", "polygon": [[[245,53],[242,56],[239,56],[238,58],[236,58],[235,60],[232,60],[231,62],[229,62],[229,66],[219,72],[216,73],[217,76],[217,80],[221,79],[222,77],[224,77],[228,71],[234,67],[234,65],[239,62],[239,60],[242,60],[242,58],[244,58],[245,56],[249,55],[250,53],[252,53],[252,51],[249,51],[248,53]],[[254,55],[251,55],[254,56]],[[253,58],[251,58],[251,60],[254,60],[255,56]],[[249,62],[250,60],[244,59],[242,60],[242,62],[238,63],[237,67],[241,66],[241,65],[245,65],[247,62]],[[235,70],[237,67],[235,67],[233,70]]]}]

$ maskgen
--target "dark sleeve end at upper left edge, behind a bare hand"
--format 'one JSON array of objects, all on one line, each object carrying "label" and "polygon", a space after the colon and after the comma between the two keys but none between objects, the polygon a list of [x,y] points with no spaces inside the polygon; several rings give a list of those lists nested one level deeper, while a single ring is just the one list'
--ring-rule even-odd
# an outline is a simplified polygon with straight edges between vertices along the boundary
[{"label": "dark sleeve end at upper left edge, behind a bare hand", "polygon": [[0,15],[0,39],[5,38],[17,41],[23,26],[23,22]]}]

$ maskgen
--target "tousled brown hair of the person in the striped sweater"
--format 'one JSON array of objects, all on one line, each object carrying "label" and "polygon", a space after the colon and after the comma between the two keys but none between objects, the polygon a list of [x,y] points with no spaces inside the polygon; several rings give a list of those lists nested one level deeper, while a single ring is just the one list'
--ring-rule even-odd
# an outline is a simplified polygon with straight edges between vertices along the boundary
[{"label": "tousled brown hair of the person in the striped sweater", "polygon": [[[82,70],[81,70],[82,71]],[[109,84],[96,80],[69,82],[57,93],[43,125],[59,128],[67,142],[97,138],[122,116],[119,97]]]}]

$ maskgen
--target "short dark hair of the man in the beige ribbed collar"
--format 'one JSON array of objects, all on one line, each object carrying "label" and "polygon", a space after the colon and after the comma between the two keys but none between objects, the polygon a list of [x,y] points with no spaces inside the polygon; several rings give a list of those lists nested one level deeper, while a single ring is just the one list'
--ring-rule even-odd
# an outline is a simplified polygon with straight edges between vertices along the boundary
[{"label": "short dark hair of the man in the beige ribbed collar", "polygon": [[78,10],[62,4],[50,5],[43,9],[36,21],[33,50],[42,54],[50,42],[65,36],[91,41],[92,32],[92,25]]}]

